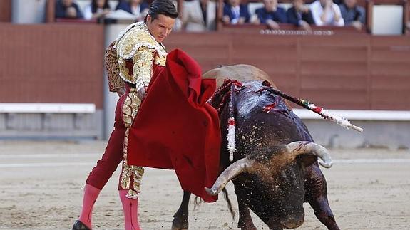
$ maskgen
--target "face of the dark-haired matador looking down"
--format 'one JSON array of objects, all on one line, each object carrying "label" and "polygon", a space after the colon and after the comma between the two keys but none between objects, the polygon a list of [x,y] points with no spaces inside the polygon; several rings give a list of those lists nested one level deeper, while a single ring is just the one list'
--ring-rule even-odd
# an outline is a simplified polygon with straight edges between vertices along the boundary
[{"label": "face of the dark-haired matador looking down", "polygon": [[153,19],[149,14],[147,16],[148,31],[157,42],[164,41],[173,30],[174,23],[175,19],[163,14],[158,14],[158,19]]}]

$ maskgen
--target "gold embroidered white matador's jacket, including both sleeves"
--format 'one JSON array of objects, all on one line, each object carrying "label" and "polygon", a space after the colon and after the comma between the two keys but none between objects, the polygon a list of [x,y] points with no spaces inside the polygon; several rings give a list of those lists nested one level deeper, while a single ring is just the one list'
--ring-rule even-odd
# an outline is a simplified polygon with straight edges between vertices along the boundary
[{"label": "gold embroidered white matador's jacket, including both sleeves", "polygon": [[138,90],[148,86],[153,73],[153,63],[165,66],[165,47],[155,41],[145,23],[133,23],[120,33],[106,50],[108,86],[111,92],[135,84]]}]

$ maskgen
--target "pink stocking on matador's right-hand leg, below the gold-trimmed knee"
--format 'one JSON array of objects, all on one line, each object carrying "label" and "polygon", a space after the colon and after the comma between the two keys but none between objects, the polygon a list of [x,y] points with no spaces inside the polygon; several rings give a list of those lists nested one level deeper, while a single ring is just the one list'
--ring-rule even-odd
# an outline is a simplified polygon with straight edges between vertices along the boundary
[{"label": "pink stocking on matador's right-hand leg, below the gold-trimmed knee", "polygon": [[138,199],[125,197],[128,190],[119,190],[121,202],[123,203],[125,230],[140,230],[138,223]]}]

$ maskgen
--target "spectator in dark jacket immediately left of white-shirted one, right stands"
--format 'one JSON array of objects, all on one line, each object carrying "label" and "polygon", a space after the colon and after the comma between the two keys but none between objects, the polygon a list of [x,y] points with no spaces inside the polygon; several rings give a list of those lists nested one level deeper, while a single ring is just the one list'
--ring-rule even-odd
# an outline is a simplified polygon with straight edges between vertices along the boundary
[{"label": "spectator in dark jacket immediately left of white-shirted one, right stands", "polygon": [[309,6],[304,6],[303,0],[293,0],[292,4],[293,6],[286,12],[287,21],[306,31],[312,31],[309,25],[314,25],[314,20]]}]

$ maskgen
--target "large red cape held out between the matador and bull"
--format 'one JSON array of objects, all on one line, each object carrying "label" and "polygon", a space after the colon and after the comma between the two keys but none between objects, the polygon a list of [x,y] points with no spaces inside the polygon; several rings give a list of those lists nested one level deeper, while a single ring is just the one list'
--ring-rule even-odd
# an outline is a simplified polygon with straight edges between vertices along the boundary
[{"label": "large red cape held out between the matador and bull", "polygon": [[130,129],[128,164],[175,169],[182,189],[215,202],[204,189],[219,174],[219,117],[206,103],[215,88],[190,56],[170,52],[166,67],[155,68]]}]

